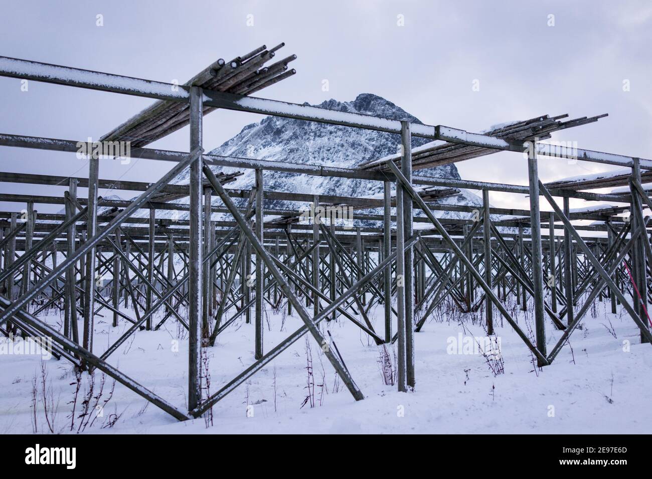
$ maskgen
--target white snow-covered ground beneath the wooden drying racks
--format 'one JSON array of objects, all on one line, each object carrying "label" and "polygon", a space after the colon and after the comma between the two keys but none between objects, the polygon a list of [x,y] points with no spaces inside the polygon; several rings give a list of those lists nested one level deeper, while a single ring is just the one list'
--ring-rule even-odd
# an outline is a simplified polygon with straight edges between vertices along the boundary
[{"label": "white snow-covered ground beneath the wooden drying racks", "polygon": [[[372,311],[376,330],[382,331],[382,306]],[[516,308],[514,308],[516,309]],[[527,347],[505,322],[497,328],[501,338],[504,373],[494,375],[481,354],[449,354],[451,341],[460,333],[484,336],[480,315],[438,315],[415,334],[416,377],[414,392],[399,393],[383,384],[378,364],[382,347],[368,340],[355,325],[340,319],[322,323],[328,328],[366,399],[354,401],[336,377],[327,358],[310,338],[314,367],[314,407],[306,398],[306,342],[291,345],[265,369],[231,392],[213,407],[213,426],[204,418],[177,422],[154,405],[147,405],[117,384],[113,398],[86,433],[649,433],[652,409],[652,348],[640,344],[633,321],[626,314],[607,313],[599,304],[582,321],[582,330],[571,336],[552,366],[534,368]],[[267,312],[265,346],[269,349],[301,325],[297,317]],[[595,317],[593,317],[595,315]],[[442,321],[441,318],[445,319]],[[496,317],[499,315],[496,314]],[[59,317],[50,317],[56,323]],[[460,323],[460,321],[463,321]],[[520,312],[519,324],[527,330],[531,313]],[[500,325],[499,319],[497,320]],[[615,336],[608,328],[615,330]],[[269,328],[268,328],[269,325]],[[168,330],[138,332],[110,358],[142,385],[185,410],[187,396],[187,346],[178,341],[177,326]],[[96,318],[95,352],[99,353],[125,330],[110,326],[110,319]],[[81,330],[81,325],[80,325]],[[547,325],[548,349],[561,333]],[[215,392],[254,361],[253,325],[240,322],[220,335],[207,349],[211,392]],[[382,333],[380,333],[382,334]],[[454,339],[451,339],[454,338]],[[6,339],[1,341],[7,342]],[[630,349],[624,347],[630,342]],[[448,350],[448,351],[447,351]],[[389,349],[391,354],[391,347]],[[33,380],[37,379],[39,433],[48,433],[43,412],[40,356],[0,356],[0,434],[34,430]],[[58,404],[55,432],[70,432],[70,410],[75,377],[65,360],[44,361],[46,401]],[[96,373],[95,393],[100,383]],[[275,377],[275,380],[274,380]],[[276,393],[274,393],[274,382]],[[105,399],[112,380],[104,385]],[[82,391],[88,378],[83,377]],[[323,388],[320,385],[325,385]],[[51,388],[51,391],[50,391]],[[94,394],[95,394],[94,393]],[[76,411],[79,413],[81,399]],[[247,405],[250,415],[247,416]],[[111,414],[119,414],[112,428]],[[76,426],[80,423],[76,419]]]}]

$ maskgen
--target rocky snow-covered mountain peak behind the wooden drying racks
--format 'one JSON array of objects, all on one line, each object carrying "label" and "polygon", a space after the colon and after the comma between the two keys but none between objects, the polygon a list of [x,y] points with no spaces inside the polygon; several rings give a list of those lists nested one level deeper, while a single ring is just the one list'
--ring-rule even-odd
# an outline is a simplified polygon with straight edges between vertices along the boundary
[{"label": "rocky snow-covered mountain peak behind the wooden drying racks", "polygon": [[[364,113],[398,120],[421,123],[404,109],[389,100],[371,93],[362,93],[351,102],[327,100],[319,108]],[[412,138],[412,147],[427,143],[424,138]],[[226,141],[211,154],[256,158],[258,160],[282,161],[319,166],[355,168],[355,166],[394,154],[400,146],[400,135],[349,128],[325,123],[315,123],[280,117],[266,117],[259,123],[244,126],[243,130]],[[233,168],[216,169],[231,173]],[[459,179],[454,164],[419,170],[419,175]],[[175,182],[187,183],[188,173]],[[265,171],[263,182],[266,190],[296,192],[303,194],[322,194],[336,196],[376,196],[383,191],[378,181],[358,179],[318,177]],[[244,170],[244,175],[231,182],[227,188],[249,189],[254,186],[254,170]],[[219,199],[214,200],[219,203]],[[480,205],[481,199],[467,191],[442,200],[445,203]],[[268,204],[266,202],[266,204]],[[274,208],[293,208],[288,202],[269,203]],[[456,213],[444,216],[458,217]]]}]

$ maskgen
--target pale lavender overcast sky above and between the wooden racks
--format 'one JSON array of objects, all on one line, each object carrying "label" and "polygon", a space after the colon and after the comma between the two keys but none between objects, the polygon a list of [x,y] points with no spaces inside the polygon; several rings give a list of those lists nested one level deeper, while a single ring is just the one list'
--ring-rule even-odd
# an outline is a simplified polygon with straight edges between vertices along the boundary
[{"label": "pale lavender overcast sky above and between the wooden racks", "polygon": [[[259,96],[316,104],[375,93],[426,124],[468,131],[543,114],[609,113],[553,139],[652,158],[648,0],[0,1],[0,55],[149,80],[183,83],[218,58],[230,60],[280,42],[286,46],[279,55],[298,55],[291,63],[297,74]],[[323,80],[329,91],[323,91]],[[479,91],[473,89],[475,80]],[[20,80],[0,78],[0,132],[97,139],[153,101],[33,81],[27,92],[20,87]],[[222,110],[209,114],[205,149],[260,118]],[[187,151],[188,128],[153,145]],[[88,175],[85,162],[73,154],[0,147],[0,161],[2,171]],[[464,179],[527,184],[526,161],[516,153],[457,167]],[[100,177],[155,181],[169,168],[150,160],[128,166],[104,161]],[[539,160],[543,181],[608,169]],[[0,190],[63,193],[52,186],[6,183]],[[496,206],[527,206],[522,195],[491,195]],[[24,207],[2,203],[3,210]]]}]

